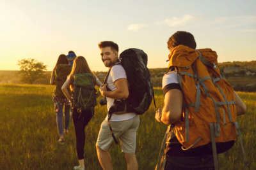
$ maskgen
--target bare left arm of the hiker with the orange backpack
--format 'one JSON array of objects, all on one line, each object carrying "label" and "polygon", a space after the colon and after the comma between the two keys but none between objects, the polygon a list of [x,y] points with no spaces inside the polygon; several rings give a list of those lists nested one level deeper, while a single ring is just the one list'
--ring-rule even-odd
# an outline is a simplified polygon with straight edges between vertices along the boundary
[{"label": "bare left arm of the hiker with the orange backpack", "polygon": [[182,92],[178,89],[172,89],[166,92],[164,96],[164,106],[163,109],[159,108],[156,111],[156,120],[163,124],[173,124],[180,120],[182,114]]}]

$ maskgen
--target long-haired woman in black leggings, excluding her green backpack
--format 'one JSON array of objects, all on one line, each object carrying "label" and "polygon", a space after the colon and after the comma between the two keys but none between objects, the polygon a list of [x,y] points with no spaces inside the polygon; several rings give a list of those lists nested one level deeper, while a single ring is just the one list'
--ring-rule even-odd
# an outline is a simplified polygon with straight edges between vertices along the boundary
[{"label": "long-haired woman in black leggings, excluding her green backpack", "polygon": [[[71,89],[74,89],[74,75],[77,73],[90,73],[93,76],[93,83],[94,86],[97,85],[100,87],[102,83],[99,81],[99,79],[92,73],[90,67],[88,66],[88,63],[86,62],[86,59],[84,57],[79,56],[76,57],[73,63],[72,71],[69,74],[67,81],[64,83],[62,90],[65,96],[67,96],[69,101],[72,101],[72,98],[70,94],[68,93],[67,88],[71,87]],[[100,96],[100,92],[98,92],[97,97]],[[85,143],[85,132],[84,129],[86,125],[90,122],[91,118],[93,117],[92,111],[81,111],[81,113],[78,113],[77,109],[73,110],[72,114],[72,120],[74,125],[74,130],[76,134],[76,152],[77,157],[79,160],[80,166],[75,166],[74,169],[77,170],[84,170],[84,143]]]}]

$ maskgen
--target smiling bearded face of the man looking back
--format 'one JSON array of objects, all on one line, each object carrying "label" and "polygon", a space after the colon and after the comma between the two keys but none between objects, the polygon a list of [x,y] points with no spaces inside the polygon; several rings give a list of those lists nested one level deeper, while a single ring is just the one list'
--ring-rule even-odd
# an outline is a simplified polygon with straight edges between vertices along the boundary
[{"label": "smiling bearded face of the man looking back", "polygon": [[[115,50],[114,50],[115,51]],[[110,46],[100,49],[101,59],[106,67],[111,67],[115,64],[118,59],[118,52],[113,52]]]}]

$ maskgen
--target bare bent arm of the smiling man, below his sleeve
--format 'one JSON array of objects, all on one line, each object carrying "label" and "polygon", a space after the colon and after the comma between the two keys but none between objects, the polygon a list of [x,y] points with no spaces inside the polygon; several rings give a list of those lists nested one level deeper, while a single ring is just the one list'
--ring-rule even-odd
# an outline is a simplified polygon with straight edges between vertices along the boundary
[{"label": "bare bent arm of the smiling man, below his sleeve", "polygon": [[107,91],[107,83],[103,86],[100,86],[100,93],[104,97],[109,97],[111,99],[126,99],[129,96],[129,90],[127,85],[126,78],[120,78],[114,82],[116,90]]}]

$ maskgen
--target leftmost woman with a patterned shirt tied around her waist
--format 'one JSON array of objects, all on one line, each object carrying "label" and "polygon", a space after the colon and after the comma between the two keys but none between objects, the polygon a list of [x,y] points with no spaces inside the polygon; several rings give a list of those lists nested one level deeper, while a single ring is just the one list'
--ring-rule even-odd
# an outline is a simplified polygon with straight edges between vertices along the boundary
[{"label": "leftmost woman with a patterned shirt tied around her waist", "polygon": [[[54,103],[54,112],[56,113],[57,116],[57,127],[58,131],[60,134],[60,139],[59,143],[64,144],[64,134],[68,134],[68,125],[69,125],[69,120],[70,120],[70,114],[69,114],[69,109],[70,109],[70,103],[67,99],[67,97],[64,96],[62,91],[60,90],[61,86],[63,85],[63,82],[61,83],[60,78],[56,80],[58,74],[56,74],[56,69],[57,67],[61,67],[60,71],[62,71],[62,76],[65,76],[67,78],[68,74],[71,71],[71,66],[68,65],[68,58],[66,55],[61,54],[58,57],[58,60],[56,62],[56,65],[54,69],[52,70],[52,75],[51,75],[51,80],[50,83],[51,85],[55,85],[54,89],[54,96],[53,96],[53,103]],[[61,74],[61,73],[59,73]],[[65,81],[65,80],[64,80]],[[59,90],[58,90],[59,89]],[[61,94],[62,93],[62,94]],[[63,123],[62,123],[62,117],[63,117],[63,106],[65,105],[65,128],[63,131]]]}]

